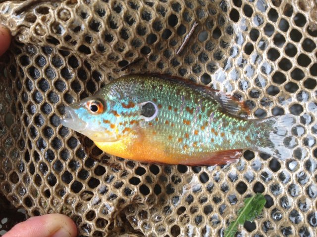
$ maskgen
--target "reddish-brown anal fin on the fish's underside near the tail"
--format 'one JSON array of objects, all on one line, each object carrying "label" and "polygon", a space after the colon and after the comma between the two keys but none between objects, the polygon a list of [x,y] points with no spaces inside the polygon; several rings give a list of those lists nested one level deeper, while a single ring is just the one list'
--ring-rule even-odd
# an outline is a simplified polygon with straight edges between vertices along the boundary
[{"label": "reddish-brown anal fin on the fish's underside near the tail", "polygon": [[242,150],[227,150],[212,153],[205,158],[183,162],[184,165],[221,165],[236,162],[242,156]]}]

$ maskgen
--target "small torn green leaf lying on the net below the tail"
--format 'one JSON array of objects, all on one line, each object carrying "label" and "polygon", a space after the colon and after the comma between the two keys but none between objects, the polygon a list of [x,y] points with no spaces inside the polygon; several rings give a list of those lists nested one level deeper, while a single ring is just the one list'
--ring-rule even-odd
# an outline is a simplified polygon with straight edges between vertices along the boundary
[{"label": "small torn green leaf lying on the net below the tail", "polygon": [[262,194],[256,194],[244,200],[244,206],[238,210],[238,217],[231,222],[224,231],[224,237],[234,237],[238,231],[238,225],[243,225],[245,221],[253,221],[263,210],[266,199]]}]

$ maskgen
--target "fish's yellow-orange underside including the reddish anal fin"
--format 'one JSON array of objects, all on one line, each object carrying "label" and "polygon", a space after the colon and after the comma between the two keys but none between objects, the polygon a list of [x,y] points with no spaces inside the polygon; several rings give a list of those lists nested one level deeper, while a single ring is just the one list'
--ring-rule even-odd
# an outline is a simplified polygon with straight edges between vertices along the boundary
[{"label": "fish's yellow-orange underside including the reddish anal fin", "polygon": [[214,165],[235,162],[242,150],[204,152],[186,155],[168,149],[164,139],[153,140],[140,134],[129,134],[114,142],[95,142],[104,152],[121,158],[159,164]]}]

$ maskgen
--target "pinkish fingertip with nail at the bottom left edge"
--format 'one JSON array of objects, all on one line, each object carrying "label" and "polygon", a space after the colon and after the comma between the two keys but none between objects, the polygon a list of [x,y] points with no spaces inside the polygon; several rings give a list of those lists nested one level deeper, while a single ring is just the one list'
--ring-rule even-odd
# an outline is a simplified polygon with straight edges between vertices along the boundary
[{"label": "pinkish fingertip with nail at the bottom left edge", "polygon": [[62,214],[31,217],[15,225],[3,237],[76,237],[75,223]]}]

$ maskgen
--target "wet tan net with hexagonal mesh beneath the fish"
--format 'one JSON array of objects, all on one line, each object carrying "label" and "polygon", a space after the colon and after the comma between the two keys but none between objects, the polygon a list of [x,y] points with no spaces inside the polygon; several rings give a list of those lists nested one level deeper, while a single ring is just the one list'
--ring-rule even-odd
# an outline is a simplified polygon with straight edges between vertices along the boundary
[{"label": "wet tan net with hexagonal mesh beneath the fish", "polygon": [[[0,191],[28,215],[69,215],[83,236],[219,236],[243,199],[267,202],[240,236],[314,236],[317,6],[287,0],[5,1]],[[192,26],[194,34],[176,54]],[[247,100],[254,118],[298,115],[287,161],[144,164],[63,127],[64,106],[130,73],[168,73]]]}]

